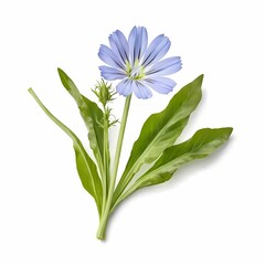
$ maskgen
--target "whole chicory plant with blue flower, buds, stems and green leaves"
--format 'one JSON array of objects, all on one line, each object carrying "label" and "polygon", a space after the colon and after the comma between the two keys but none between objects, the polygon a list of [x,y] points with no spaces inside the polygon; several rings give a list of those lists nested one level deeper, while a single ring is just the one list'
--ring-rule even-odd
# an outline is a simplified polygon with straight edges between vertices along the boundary
[{"label": "whole chicory plant with blue flower, buds, stems and green leaves", "polygon": [[[117,30],[108,40],[109,46],[100,45],[98,52],[106,64],[99,66],[103,78],[93,89],[98,104],[82,95],[68,75],[57,68],[61,82],[76,102],[88,130],[94,158],[87,153],[73,130],[50,113],[32,88],[29,89],[43,112],[73,140],[80,179],[97,206],[99,240],[105,239],[109,215],[121,201],[141,188],[168,181],[182,165],[208,157],[227,141],[233,130],[231,127],[203,128],[187,141],[176,145],[201,100],[203,75],[200,75],[176,93],[162,112],[149,116],[132,146],[119,181],[116,181],[131,97],[135,95],[147,99],[152,96],[152,91],[160,94],[172,92],[176,82],[167,76],[181,70],[181,59],[163,59],[170,49],[170,40],[160,34],[148,44],[148,33],[144,26],[134,26],[128,39]],[[119,83],[115,88],[107,83],[117,80]],[[125,106],[112,160],[108,131],[118,120],[114,118],[109,103],[116,94],[125,97]],[[149,168],[135,178],[144,165],[149,165]]]}]

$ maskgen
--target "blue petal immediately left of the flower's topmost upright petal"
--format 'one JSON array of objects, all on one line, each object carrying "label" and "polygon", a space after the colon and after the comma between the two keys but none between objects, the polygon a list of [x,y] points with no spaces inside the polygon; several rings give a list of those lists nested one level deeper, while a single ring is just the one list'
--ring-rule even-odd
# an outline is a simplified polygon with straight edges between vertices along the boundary
[{"label": "blue petal immediately left of the flower's topmost upright petal", "polygon": [[108,40],[114,53],[126,65],[126,62],[129,62],[129,45],[124,33],[117,30],[109,35]]}]

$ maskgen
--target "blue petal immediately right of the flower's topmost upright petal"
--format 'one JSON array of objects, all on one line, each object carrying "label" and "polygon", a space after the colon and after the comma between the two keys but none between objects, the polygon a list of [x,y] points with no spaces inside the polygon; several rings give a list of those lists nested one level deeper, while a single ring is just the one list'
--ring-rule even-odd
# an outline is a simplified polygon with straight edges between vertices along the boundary
[{"label": "blue petal immediately right of the flower's topmost upright petal", "polygon": [[142,66],[148,66],[158,62],[169,51],[171,42],[165,35],[158,35],[148,46],[142,60]]}]

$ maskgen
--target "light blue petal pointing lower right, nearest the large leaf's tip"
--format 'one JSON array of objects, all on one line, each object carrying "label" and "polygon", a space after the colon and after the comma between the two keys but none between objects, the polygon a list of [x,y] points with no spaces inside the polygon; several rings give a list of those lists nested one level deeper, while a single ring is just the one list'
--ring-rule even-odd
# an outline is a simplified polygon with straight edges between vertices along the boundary
[{"label": "light blue petal pointing lower right, nearest the large leaf's tip", "polygon": [[144,83],[160,94],[168,94],[173,89],[177,83],[168,77],[157,77],[145,80]]}]

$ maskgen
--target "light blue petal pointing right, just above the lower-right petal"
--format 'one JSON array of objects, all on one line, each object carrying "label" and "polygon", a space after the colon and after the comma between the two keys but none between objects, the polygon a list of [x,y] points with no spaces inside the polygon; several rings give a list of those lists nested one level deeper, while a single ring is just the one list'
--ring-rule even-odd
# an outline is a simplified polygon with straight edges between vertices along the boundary
[{"label": "light blue petal pointing right, just above the lower-right petal", "polygon": [[147,78],[160,77],[177,73],[181,70],[181,60],[179,56],[165,59],[146,71]]}]

